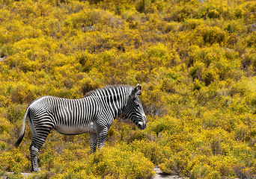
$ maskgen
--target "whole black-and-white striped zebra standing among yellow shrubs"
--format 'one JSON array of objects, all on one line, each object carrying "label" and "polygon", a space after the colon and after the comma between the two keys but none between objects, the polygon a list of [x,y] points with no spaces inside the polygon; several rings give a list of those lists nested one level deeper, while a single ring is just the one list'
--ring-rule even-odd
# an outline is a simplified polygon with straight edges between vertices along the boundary
[{"label": "whole black-and-white striped zebra standing among yellow shrubs", "polygon": [[14,144],[18,147],[25,134],[25,121],[33,136],[29,151],[31,171],[38,171],[37,154],[49,135],[54,130],[60,134],[76,135],[90,133],[91,153],[103,148],[107,132],[114,119],[124,114],[139,129],[147,127],[142,104],[141,85],[110,86],[94,90],[84,98],[68,99],[55,96],[43,96],[35,99],[25,110],[22,129]]}]

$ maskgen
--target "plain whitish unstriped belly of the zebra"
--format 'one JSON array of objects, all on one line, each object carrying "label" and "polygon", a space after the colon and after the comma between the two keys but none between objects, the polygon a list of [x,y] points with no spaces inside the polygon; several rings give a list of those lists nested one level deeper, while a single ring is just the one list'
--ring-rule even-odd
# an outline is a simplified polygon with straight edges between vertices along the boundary
[{"label": "plain whitish unstriped belly of the zebra", "polygon": [[76,135],[76,134],[84,134],[87,132],[96,132],[96,130],[94,129],[93,122],[83,127],[56,125],[54,130],[60,134],[66,134],[66,135]]}]

